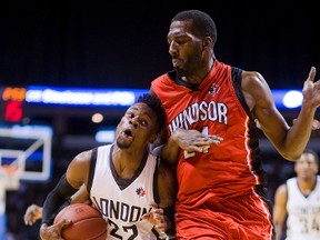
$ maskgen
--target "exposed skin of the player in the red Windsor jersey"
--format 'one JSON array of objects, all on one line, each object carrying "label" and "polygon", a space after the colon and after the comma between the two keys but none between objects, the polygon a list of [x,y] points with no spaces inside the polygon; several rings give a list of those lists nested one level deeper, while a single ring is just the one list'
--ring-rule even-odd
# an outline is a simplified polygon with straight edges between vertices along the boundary
[{"label": "exposed skin of the player in the red Windsor jersey", "polygon": [[[200,83],[214,62],[213,46],[210,37],[199,37],[192,32],[192,21],[173,21],[168,32],[169,53],[179,77],[190,83]],[[263,77],[256,71],[243,71],[241,88],[250,111],[259,121],[260,128],[278,152],[288,160],[298,160],[302,154],[310,134],[313,117],[320,106],[320,81],[314,81],[316,68],[312,67],[303,84],[303,101],[294,124],[289,127],[276,108],[271,90]],[[150,90],[152,93],[152,89]],[[162,157],[176,163],[180,148],[187,151],[206,152],[208,146],[219,144],[222,139],[204,136],[197,130],[178,129],[169,138]]]}]

